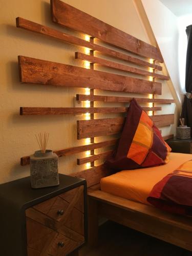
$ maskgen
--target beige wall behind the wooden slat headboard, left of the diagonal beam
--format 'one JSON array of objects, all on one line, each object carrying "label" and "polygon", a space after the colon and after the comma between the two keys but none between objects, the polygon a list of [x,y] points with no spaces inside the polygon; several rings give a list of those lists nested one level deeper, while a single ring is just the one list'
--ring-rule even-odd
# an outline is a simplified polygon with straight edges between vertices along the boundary
[{"label": "beige wall behind the wooden slat headboard, left of the diagonal beam", "polygon": [[[97,0],[96,2],[66,0],[65,2],[148,42],[132,0]],[[76,120],[84,116],[19,116],[20,106],[73,106],[74,95],[84,93],[84,89],[20,84],[17,55],[83,67],[83,61],[74,60],[74,52],[84,51],[84,49],[15,27],[15,18],[20,16],[61,31],[67,31],[52,24],[49,0],[0,0],[0,5],[0,183],[3,183],[29,175],[29,166],[20,166],[20,157],[30,155],[38,149],[34,137],[37,132],[50,133],[48,147],[53,150],[84,144],[84,140],[76,140]],[[83,37],[75,32],[73,34]],[[116,71],[116,73],[122,72]],[[166,83],[163,84],[163,92],[162,97],[172,98]],[[97,93],[101,94],[99,91]],[[115,93],[105,92],[104,94],[114,95]],[[118,93],[118,95],[125,94]],[[100,106],[101,103],[98,105]],[[169,113],[173,113],[173,106],[170,108]],[[166,132],[168,133],[169,130]],[[78,156],[84,157],[84,153]],[[76,165],[76,157],[77,155],[60,158],[59,172],[69,174],[86,168],[84,165],[80,167]]]}]

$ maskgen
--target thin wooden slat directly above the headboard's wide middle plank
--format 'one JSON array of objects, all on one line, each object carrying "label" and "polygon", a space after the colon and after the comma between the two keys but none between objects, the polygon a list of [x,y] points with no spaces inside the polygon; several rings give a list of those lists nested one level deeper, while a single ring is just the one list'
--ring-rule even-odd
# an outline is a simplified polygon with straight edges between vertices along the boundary
[{"label": "thin wooden slat directly above the headboard's wide middle plank", "polygon": [[93,55],[75,52],[75,58],[87,60],[87,61],[90,61],[91,63],[96,63],[96,64],[104,66],[104,67],[127,71],[127,72],[137,74],[137,75],[151,76],[151,77],[155,77],[155,78],[162,79],[162,80],[169,80],[168,76],[164,76],[164,75],[161,75],[161,74],[158,74],[155,72],[149,72],[149,71],[142,70],[142,69],[133,68],[130,66],[123,65],[121,63],[114,62],[114,61],[94,57]]}]

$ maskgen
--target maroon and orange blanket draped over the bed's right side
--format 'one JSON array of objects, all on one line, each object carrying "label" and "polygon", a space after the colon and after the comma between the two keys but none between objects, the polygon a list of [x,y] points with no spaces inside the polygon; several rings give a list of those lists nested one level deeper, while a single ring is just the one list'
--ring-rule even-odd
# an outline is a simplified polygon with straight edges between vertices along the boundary
[{"label": "maroon and orange blanket draped over the bed's right side", "polygon": [[192,161],[159,181],[147,201],[162,210],[192,216]]}]

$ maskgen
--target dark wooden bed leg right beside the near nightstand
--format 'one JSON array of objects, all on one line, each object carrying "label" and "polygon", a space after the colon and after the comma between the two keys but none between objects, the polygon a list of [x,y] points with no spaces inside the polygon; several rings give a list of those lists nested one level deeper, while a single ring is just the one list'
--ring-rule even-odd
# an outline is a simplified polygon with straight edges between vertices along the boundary
[{"label": "dark wooden bed leg right beside the near nightstand", "polygon": [[98,202],[88,197],[88,246],[98,242]]}]

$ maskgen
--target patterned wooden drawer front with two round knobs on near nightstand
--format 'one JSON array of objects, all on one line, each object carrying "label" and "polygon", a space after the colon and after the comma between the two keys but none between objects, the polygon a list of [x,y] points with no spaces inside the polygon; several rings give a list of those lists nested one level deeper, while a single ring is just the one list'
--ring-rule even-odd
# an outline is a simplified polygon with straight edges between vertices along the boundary
[{"label": "patterned wooden drawer front with two round knobs on near nightstand", "polygon": [[63,256],[84,242],[83,188],[26,210],[28,256]]}]

